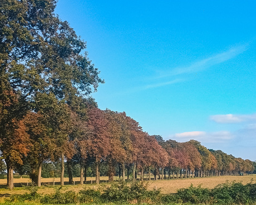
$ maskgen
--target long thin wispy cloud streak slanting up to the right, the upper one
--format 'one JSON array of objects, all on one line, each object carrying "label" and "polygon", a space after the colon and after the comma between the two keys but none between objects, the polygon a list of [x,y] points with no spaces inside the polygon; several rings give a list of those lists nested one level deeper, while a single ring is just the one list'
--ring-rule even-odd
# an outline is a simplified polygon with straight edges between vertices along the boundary
[{"label": "long thin wispy cloud streak slanting up to the right, the upper one", "polygon": [[245,50],[247,50],[247,47],[248,47],[247,45],[240,45],[238,47],[230,48],[229,50],[219,53],[219,54],[216,54],[216,55],[213,55],[212,57],[196,61],[189,66],[176,67],[169,71],[164,71],[159,76],[156,76],[156,78],[166,78],[168,76],[174,76],[174,75],[180,75],[180,74],[190,74],[190,73],[195,73],[198,71],[205,70],[206,68],[209,68],[210,66],[223,63],[224,61],[227,61],[229,59],[236,57],[237,55],[239,55],[239,54],[243,53]]}]

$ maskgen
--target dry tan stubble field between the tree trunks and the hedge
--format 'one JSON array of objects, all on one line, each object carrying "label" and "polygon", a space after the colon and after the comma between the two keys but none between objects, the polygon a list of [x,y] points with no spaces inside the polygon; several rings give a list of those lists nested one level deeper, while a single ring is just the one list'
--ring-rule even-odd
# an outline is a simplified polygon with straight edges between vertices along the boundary
[{"label": "dry tan stubble field between the tree trunks and the hedge", "polygon": [[[101,177],[101,180],[107,180],[107,177]],[[178,180],[164,180],[164,181],[149,181],[149,189],[154,189],[155,187],[161,188],[161,192],[164,194],[175,193],[179,188],[186,188],[189,187],[192,183],[194,186],[198,186],[201,184],[202,187],[206,188],[214,188],[217,184],[225,183],[227,180],[229,182],[236,181],[242,182],[243,184],[249,183],[251,180],[254,180],[253,183],[256,183],[256,175],[248,175],[248,176],[220,176],[220,177],[206,177],[206,178],[184,178]],[[73,180],[77,181],[80,178],[73,178]],[[95,178],[88,177],[87,180],[95,180]],[[14,183],[26,183],[28,181],[27,178],[19,178],[14,179]],[[47,184],[48,182],[52,182],[53,178],[42,178],[42,182]],[[60,181],[59,178],[56,178],[55,181]],[[65,181],[68,181],[68,178],[65,178]],[[6,180],[0,180],[1,184],[6,183]],[[103,183],[106,184],[106,183]],[[80,191],[82,188],[97,188],[101,185],[96,184],[84,184],[81,186],[80,184],[74,185],[67,185],[63,187],[63,191],[73,190],[73,191]],[[53,186],[42,186],[38,189],[38,193],[46,194],[46,193],[53,193],[55,192],[55,188],[60,187],[59,185]],[[28,192],[26,189],[22,187],[16,187],[14,190],[9,191],[6,188],[0,189],[0,197],[1,196],[11,196],[12,194],[23,194]]]}]

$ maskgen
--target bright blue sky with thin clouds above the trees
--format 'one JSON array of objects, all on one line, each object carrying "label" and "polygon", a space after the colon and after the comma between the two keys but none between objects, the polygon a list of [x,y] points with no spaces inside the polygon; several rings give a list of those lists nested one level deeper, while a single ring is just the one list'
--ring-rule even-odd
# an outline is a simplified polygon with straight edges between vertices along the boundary
[{"label": "bright blue sky with thin clouds above the trees", "polygon": [[255,1],[59,0],[106,83],[100,109],[150,135],[256,160]]}]

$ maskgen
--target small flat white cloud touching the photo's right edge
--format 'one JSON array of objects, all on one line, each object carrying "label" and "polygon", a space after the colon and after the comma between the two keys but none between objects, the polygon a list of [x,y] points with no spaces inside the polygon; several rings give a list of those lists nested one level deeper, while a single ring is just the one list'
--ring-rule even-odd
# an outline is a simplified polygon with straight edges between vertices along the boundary
[{"label": "small flat white cloud touching the photo's right edge", "polygon": [[244,121],[256,121],[256,114],[250,115],[212,115],[210,116],[210,120],[215,122],[226,124],[226,123],[239,123]]}]

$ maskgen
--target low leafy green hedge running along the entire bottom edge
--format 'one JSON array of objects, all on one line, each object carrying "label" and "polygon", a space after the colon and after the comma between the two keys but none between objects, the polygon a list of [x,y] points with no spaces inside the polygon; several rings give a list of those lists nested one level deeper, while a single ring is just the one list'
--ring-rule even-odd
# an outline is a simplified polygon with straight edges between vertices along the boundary
[{"label": "low leafy green hedge running along the entire bottom edge", "polygon": [[256,183],[251,181],[243,185],[241,182],[227,182],[219,184],[213,189],[194,187],[178,189],[175,194],[162,195],[160,189],[149,191],[147,183],[136,181],[131,184],[121,182],[102,186],[99,189],[82,189],[62,192],[56,189],[53,194],[41,195],[37,187],[28,187],[30,193],[13,195],[10,202],[35,201],[43,204],[71,204],[71,203],[193,203],[193,204],[255,204]]}]

